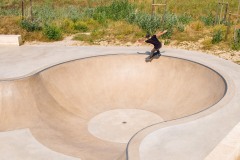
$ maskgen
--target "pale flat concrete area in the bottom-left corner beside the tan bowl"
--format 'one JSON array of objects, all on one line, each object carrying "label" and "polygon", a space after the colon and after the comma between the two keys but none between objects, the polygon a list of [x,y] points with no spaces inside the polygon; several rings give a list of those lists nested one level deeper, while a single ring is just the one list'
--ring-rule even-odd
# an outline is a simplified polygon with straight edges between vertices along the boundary
[{"label": "pale flat concrete area in the bottom-left corner beside the tan bowl", "polygon": [[29,129],[0,132],[0,144],[1,160],[80,160],[43,146]]}]

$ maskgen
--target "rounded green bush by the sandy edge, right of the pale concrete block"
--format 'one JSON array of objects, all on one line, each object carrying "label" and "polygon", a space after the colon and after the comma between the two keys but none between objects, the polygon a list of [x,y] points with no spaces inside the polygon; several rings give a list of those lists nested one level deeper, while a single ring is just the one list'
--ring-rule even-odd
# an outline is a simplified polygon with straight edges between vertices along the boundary
[{"label": "rounded green bush by the sandy edge, right of the pale concrete block", "polygon": [[43,28],[43,34],[50,40],[60,40],[62,38],[61,30],[54,25],[46,24]]}]

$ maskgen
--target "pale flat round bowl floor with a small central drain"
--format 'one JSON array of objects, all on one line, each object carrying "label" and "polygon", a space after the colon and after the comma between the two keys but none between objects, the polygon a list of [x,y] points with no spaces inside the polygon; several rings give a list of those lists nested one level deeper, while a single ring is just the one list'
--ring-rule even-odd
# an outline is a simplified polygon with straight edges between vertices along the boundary
[{"label": "pale flat round bowl floor with a small central drain", "polygon": [[162,121],[159,115],[146,110],[114,109],[93,117],[88,131],[106,141],[127,143],[137,131]]}]

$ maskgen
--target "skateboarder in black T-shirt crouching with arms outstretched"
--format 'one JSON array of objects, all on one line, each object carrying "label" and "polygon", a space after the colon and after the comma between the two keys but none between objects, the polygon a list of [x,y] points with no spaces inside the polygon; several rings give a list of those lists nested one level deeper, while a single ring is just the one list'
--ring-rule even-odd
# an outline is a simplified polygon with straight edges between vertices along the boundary
[{"label": "skateboarder in black T-shirt crouching with arms outstretched", "polygon": [[165,30],[163,32],[158,32],[157,34],[154,34],[153,36],[151,36],[149,33],[147,33],[147,35],[145,37],[145,38],[147,38],[147,40],[145,42],[150,43],[154,46],[154,48],[151,50],[151,53],[150,53],[150,57],[149,57],[150,59],[155,55],[160,56],[159,49],[162,47],[162,43],[158,40],[158,37],[162,36],[165,33],[167,33],[167,30]]}]

